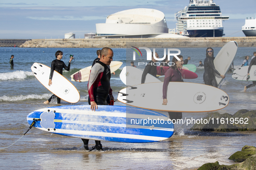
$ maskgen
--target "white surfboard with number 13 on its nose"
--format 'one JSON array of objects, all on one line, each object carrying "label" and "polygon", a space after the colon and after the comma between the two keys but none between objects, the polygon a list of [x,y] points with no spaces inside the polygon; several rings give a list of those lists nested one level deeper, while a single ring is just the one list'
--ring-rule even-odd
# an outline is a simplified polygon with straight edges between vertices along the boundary
[{"label": "white surfboard with number 13 on its nose", "polygon": [[220,110],[229,103],[227,93],[209,85],[170,82],[167,105],[162,105],[163,82],[145,83],[123,88],[118,101],[133,107],[172,112],[209,112]]}]

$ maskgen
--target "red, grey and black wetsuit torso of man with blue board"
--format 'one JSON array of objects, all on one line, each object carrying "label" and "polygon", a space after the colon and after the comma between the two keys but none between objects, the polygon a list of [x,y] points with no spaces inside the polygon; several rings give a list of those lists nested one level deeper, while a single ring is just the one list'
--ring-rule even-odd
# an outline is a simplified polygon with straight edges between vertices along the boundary
[{"label": "red, grey and black wetsuit torso of man with blue board", "polygon": [[88,82],[89,104],[95,101],[97,105],[107,105],[107,96],[112,94],[110,78],[110,66],[101,61],[94,64]]}]

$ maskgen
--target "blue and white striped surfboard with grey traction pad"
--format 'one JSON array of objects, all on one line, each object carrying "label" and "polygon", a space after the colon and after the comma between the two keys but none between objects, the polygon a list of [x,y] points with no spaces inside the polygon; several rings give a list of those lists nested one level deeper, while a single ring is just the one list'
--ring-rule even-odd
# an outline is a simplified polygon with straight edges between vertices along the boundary
[{"label": "blue and white striped surfboard with grey traction pad", "polygon": [[159,142],[173,135],[169,117],[136,107],[90,105],[48,107],[29,113],[27,122],[58,135],[112,142]]}]

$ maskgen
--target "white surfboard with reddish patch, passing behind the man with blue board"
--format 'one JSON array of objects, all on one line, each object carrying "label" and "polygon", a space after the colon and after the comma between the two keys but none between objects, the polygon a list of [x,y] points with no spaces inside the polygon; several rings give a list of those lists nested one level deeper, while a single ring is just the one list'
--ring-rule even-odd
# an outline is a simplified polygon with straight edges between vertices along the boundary
[{"label": "white surfboard with reddish patch, passing behind the man with blue board", "polygon": [[[110,63],[110,72],[113,73],[117,69],[119,69],[120,66],[122,66],[123,62],[120,61],[111,61]],[[71,81],[74,82],[87,82],[89,81],[89,76],[90,76],[90,71],[91,71],[91,66],[88,66],[84,69],[79,70],[78,72],[75,72],[72,74]]]}]

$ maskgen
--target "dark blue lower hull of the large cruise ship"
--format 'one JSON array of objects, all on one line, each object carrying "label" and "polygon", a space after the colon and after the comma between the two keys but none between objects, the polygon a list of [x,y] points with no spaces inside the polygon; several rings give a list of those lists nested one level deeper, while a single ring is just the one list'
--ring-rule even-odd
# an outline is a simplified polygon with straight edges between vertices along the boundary
[{"label": "dark blue lower hull of the large cruise ship", "polygon": [[188,37],[222,37],[223,29],[187,30]]}]

